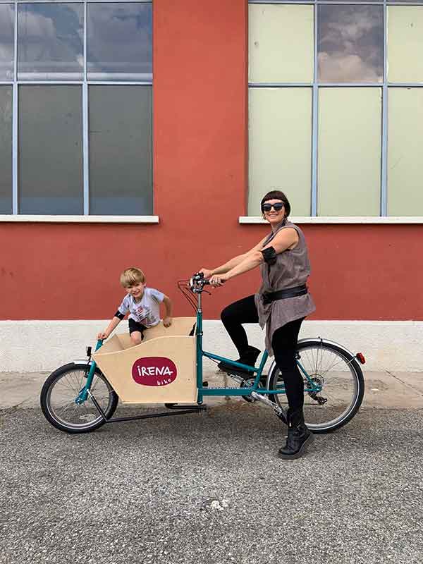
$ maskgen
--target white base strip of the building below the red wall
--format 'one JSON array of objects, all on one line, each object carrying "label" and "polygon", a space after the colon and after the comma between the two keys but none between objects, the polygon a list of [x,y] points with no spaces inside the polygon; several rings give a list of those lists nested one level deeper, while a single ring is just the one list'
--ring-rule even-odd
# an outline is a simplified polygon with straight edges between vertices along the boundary
[{"label": "white base strip of the building below the red wall", "polygon": [[[85,357],[85,346],[107,321],[0,321],[0,372],[51,371]],[[123,321],[118,332],[127,331]],[[263,349],[264,333],[245,326]],[[423,371],[423,321],[305,321],[300,338],[321,336],[362,352],[368,371]],[[236,358],[220,321],[204,321],[204,350]]]}]

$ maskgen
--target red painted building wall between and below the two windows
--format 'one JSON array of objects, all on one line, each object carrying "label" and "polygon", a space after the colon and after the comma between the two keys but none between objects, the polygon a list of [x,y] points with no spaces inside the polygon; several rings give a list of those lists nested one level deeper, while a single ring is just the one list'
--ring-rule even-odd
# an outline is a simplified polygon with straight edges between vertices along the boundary
[{"label": "red painted building wall between and below the two windows", "polygon": [[[247,186],[247,2],[154,0],[154,197],[159,225],[0,223],[1,319],[104,319],[140,266],[190,314],[176,281],[252,247]],[[289,195],[289,188],[283,187]],[[295,214],[295,210],[293,210]],[[422,226],[306,225],[314,319],[423,319]],[[252,293],[258,272],[206,296]],[[412,288],[410,289],[405,289]]]}]

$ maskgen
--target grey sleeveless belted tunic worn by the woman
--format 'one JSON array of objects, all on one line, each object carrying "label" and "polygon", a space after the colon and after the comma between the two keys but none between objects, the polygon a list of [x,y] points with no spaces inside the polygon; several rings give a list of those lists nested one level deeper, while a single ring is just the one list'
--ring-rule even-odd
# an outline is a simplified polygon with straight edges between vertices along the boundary
[{"label": "grey sleeveless belted tunic worn by the woman", "polygon": [[265,247],[270,243],[281,229],[286,229],[287,227],[294,228],[297,231],[298,245],[295,249],[287,249],[278,253],[275,264],[269,265],[264,262],[260,266],[263,283],[255,295],[259,324],[262,329],[266,325],[266,350],[271,356],[273,356],[271,338],[276,329],[279,329],[279,327],[282,327],[289,321],[306,317],[316,309],[312,296],[309,293],[296,296],[295,298],[276,300],[269,304],[263,303],[264,292],[276,292],[276,290],[284,290],[285,288],[295,288],[295,286],[305,284],[310,274],[310,262],[305,237],[301,229],[294,225],[294,223],[286,221],[275,233],[271,233],[266,238],[263,246]]}]

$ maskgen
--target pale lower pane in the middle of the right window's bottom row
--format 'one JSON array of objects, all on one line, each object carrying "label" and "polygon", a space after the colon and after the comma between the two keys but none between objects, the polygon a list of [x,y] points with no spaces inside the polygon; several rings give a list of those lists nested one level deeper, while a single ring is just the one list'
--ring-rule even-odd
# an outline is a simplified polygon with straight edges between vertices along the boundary
[{"label": "pale lower pane in the middle of the right window's bottom row", "polygon": [[319,89],[319,216],[379,216],[381,89]]}]

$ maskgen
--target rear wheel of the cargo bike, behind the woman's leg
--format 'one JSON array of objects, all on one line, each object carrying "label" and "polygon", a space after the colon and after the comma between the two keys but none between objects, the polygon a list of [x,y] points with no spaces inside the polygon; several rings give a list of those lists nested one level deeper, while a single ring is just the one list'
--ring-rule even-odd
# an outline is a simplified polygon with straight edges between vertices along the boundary
[{"label": "rear wheel of the cargo bike, behind the woman's leg", "polygon": [[[298,368],[304,381],[305,424],[315,434],[343,427],[360,409],[364,396],[364,378],[360,364],[347,350],[322,339],[298,343]],[[272,364],[269,396],[286,409],[285,387],[281,371]]]}]

